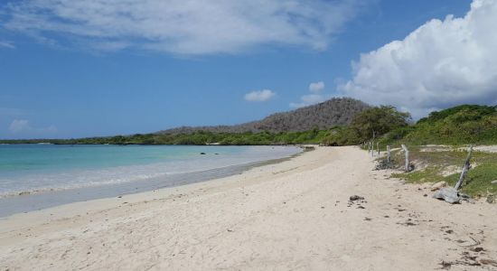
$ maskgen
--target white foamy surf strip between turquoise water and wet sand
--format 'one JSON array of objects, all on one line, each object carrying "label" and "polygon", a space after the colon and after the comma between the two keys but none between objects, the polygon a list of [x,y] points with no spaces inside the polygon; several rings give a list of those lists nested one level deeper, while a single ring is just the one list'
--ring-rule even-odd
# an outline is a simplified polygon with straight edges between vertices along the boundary
[{"label": "white foamy surf strip between turquoise water and wet sand", "polygon": [[90,186],[123,182],[146,182],[168,175],[202,172],[232,165],[250,164],[283,158],[300,152],[298,147],[250,146],[237,154],[197,154],[154,164],[113,166],[102,169],[70,169],[48,173],[27,174],[2,178],[0,176],[0,198],[50,191],[69,190]]}]

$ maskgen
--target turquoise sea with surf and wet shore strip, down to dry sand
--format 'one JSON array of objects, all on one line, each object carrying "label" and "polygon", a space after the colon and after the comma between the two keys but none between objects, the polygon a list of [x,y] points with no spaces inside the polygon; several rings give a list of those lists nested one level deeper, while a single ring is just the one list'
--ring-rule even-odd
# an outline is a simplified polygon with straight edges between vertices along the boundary
[{"label": "turquoise sea with surf and wet shore strip, down to dry sand", "polygon": [[207,181],[300,151],[293,146],[0,145],[0,217]]}]

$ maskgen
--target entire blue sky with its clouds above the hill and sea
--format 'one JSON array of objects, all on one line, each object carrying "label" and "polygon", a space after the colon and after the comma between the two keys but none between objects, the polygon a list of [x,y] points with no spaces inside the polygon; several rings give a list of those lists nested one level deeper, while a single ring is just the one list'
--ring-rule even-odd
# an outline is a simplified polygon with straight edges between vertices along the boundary
[{"label": "entire blue sky with its clouds above the hill and sea", "polygon": [[[491,65],[484,49],[495,41],[474,22],[489,23],[476,19],[485,18],[479,5],[497,10],[492,0],[475,0],[471,16],[469,0],[110,2],[0,4],[0,138],[236,124],[335,96],[415,117],[463,100],[497,103],[495,72],[469,74]],[[468,29],[481,49],[471,62],[459,59],[467,36],[460,49],[443,50],[454,44],[445,33]],[[428,76],[425,67],[437,70]],[[397,95],[399,86],[407,87]],[[482,89],[462,90],[475,86]]]}]

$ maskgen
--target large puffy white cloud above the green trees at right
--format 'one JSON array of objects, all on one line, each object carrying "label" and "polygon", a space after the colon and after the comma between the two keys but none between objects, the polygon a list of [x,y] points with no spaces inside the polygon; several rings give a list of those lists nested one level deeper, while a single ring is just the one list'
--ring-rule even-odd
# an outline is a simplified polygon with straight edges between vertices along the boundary
[{"label": "large puffy white cloud above the green trees at right", "polygon": [[463,18],[431,20],[403,41],[361,54],[344,95],[423,117],[462,103],[497,103],[497,1],[474,0]]}]

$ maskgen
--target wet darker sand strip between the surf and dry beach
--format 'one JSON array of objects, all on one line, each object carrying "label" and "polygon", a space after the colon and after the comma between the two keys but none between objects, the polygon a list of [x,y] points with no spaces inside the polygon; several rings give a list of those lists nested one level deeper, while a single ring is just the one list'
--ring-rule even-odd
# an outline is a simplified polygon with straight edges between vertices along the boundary
[{"label": "wet darker sand strip between the surf and dry beach", "polygon": [[175,187],[195,182],[207,182],[235,174],[240,174],[254,167],[281,163],[300,154],[303,154],[309,150],[310,149],[308,148],[303,148],[301,152],[283,158],[258,161],[248,164],[231,165],[200,172],[174,174],[167,177],[167,182],[164,181],[164,177],[160,177],[151,178],[146,182],[123,182],[117,184],[82,187],[70,190],[0,198],[0,218],[4,218],[16,213],[42,210],[59,205],[69,204],[72,202],[113,198],[126,194],[150,192],[157,189]]}]

